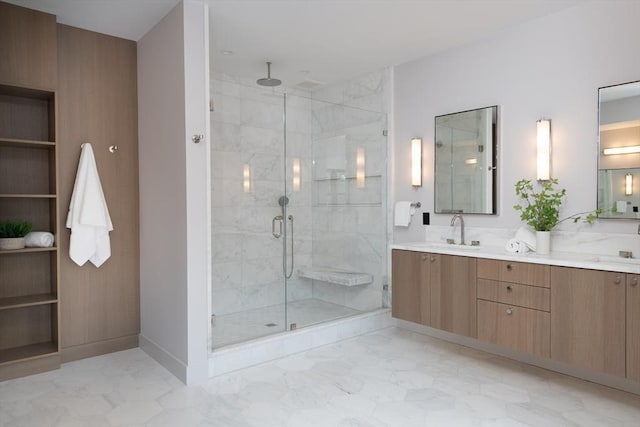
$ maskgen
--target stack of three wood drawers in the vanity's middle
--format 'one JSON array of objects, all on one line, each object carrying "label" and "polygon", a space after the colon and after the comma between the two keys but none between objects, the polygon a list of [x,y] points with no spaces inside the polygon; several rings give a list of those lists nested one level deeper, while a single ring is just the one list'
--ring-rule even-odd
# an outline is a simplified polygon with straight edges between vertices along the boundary
[{"label": "stack of three wood drawers in the vanity's middle", "polygon": [[478,339],[549,357],[549,266],[478,259]]}]

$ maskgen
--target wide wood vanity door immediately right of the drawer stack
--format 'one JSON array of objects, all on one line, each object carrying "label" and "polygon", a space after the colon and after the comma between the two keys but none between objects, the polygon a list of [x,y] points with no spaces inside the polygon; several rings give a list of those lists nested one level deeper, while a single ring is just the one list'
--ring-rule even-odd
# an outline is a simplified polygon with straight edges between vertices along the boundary
[{"label": "wide wood vanity door immediately right of the drawer stack", "polygon": [[551,358],[625,376],[625,275],[551,267]]}]

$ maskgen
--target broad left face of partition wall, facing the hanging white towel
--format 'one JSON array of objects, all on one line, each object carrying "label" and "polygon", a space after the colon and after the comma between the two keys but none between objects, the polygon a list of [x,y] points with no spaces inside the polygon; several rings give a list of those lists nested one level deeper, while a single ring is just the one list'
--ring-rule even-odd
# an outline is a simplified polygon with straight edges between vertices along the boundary
[{"label": "broad left face of partition wall, facing the hanging white towel", "polygon": [[179,4],[138,42],[140,335],[186,365],[182,32]]}]

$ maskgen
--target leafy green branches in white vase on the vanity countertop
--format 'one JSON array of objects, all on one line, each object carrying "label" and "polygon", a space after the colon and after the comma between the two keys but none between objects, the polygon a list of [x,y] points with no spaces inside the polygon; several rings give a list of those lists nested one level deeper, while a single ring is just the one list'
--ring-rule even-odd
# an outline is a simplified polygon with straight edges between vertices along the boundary
[{"label": "leafy green branches in white vase on the vanity countertop", "polygon": [[[516,195],[521,199],[513,208],[520,212],[520,219],[536,231],[536,252],[548,254],[550,249],[550,232],[558,224],[568,219],[578,222],[593,224],[598,218],[600,210],[582,212],[563,219],[560,218],[560,206],[562,198],[567,190],[556,189],[557,179],[538,182],[539,191],[535,191],[533,183],[529,179],[521,179],[516,182]],[[583,219],[582,214],[587,214]]]}]

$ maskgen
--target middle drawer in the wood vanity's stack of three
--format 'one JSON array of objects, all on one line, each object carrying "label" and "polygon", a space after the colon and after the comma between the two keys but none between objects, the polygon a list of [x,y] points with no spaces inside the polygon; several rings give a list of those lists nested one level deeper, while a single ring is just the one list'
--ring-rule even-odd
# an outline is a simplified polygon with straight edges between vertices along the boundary
[{"label": "middle drawer in the wood vanity's stack of three", "polygon": [[547,288],[478,279],[478,298],[493,302],[549,311],[549,294]]}]

